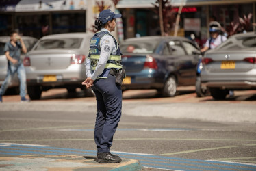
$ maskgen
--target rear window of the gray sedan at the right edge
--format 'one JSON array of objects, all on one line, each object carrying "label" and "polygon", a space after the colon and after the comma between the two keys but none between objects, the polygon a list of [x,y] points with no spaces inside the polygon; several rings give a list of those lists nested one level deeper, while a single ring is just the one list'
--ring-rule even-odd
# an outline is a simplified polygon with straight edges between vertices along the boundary
[{"label": "rear window of the gray sedan at the right edge", "polygon": [[230,38],[216,49],[220,50],[241,50],[245,48],[256,47],[256,35],[255,36],[239,36],[236,38]]}]

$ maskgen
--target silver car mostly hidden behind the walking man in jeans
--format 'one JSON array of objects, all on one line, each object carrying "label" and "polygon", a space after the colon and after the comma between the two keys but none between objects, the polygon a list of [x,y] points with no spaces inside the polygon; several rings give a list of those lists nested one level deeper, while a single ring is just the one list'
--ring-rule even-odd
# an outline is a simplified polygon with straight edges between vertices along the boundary
[{"label": "silver car mostly hidden behind the walking man in jeans", "polygon": [[[25,46],[27,47],[27,51],[30,51],[34,44],[36,44],[36,42],[38,41],[38,39],[30,36],[22,36],[22,38]],[[5,56],[5,52],[3,51],[3,49],[5,47],[5,43],[8,41],[10,41],[10,36],[0,36],[0,86],[3,84],[3,81],[5,80],[5,76],[7,74],[8,60]],[[24,56],[25,54],[21,51],[21,59],[23,59]],[[12,93],[18,94],[19,83],[18,76],[16,74],[12,78],[12,81],[8,86],[8,90],[12,90]]]}]

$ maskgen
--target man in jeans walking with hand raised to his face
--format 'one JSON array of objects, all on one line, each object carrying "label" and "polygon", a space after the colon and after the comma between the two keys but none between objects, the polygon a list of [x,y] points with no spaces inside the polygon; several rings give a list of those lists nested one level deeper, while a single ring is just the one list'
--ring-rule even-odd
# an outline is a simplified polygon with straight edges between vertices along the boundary
[{"label": "man in jeans walking with hand raised to his face", "polygon": [[0,102],[3,101],[3,94],[8,88],[10,81],[15,73],[18,74],[18,79],[20,81],[20,95],[21,101],[29,101],[25,98],[27,94],[27,84],[26,84],[26,72],[23,66],[23,62],[21,60],[21,50],[23,53],[27,53],[27,48],[21,38],[18,35],[17,31],[11,31],[10,33],[10,41],[5,44],[4,52],[6,58],[8,59],[8,70],[7,75],[5,77],[5,81],[0,89]]}]

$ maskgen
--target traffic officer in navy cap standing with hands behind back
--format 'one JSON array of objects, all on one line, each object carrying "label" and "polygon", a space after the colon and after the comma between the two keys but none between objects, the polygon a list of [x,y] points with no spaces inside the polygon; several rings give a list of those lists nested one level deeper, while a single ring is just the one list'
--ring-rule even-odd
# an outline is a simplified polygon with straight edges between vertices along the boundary
[{"label": "traffic officer in navy cap standing with hands behind back", "polygon": [[113,136],[118,127],[122,110],[122,90],[116,83],[116,75],[122,70],[118,42],[110,34],[116,27],[116,18],[111,10],[103,10],[95,21],[98,31],[90,40],[90,51],[86,59],[87,79],[82,83],[92,88],[97,100],[97,117],[94,140],[97,145],[98,163],[120,163],[117,155],[110,153]]}]

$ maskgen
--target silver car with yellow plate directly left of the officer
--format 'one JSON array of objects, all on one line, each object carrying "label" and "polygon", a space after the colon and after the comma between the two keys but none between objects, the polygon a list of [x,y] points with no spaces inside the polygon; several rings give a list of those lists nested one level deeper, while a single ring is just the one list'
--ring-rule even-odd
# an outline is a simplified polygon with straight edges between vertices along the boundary
[{"label": "silver car with yellow plate directly left of the officer", "polygon": [[73,33],[44,36],[23,60],[27,73],[27,93],[39,99],[42,91],[66,88],[75,92],[83,88],[84,62],[92,34]]}]

